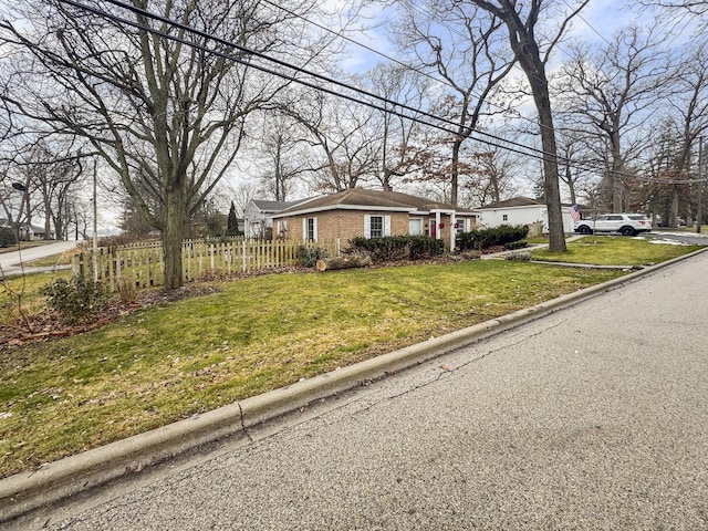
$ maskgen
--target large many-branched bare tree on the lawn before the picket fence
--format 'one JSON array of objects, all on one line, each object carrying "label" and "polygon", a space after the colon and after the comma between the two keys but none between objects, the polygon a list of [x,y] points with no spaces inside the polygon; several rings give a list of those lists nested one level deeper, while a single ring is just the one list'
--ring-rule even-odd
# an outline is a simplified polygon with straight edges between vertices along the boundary
[{"label": "large many-branched bare tree on the lawn before the picket fence", "polygon": [[178,288],[188,220],[235,160],[246,118],[282,86],[250,66],[247,50],[305,53],[294,13],[312,4],[110,2],[124,22],[105,14],[105,2],[84,3],[96,11],[62,0],[14,2],[25,22],[0,23],[0,98],[38,128],[92,144],[162,231],[165,288]]}]

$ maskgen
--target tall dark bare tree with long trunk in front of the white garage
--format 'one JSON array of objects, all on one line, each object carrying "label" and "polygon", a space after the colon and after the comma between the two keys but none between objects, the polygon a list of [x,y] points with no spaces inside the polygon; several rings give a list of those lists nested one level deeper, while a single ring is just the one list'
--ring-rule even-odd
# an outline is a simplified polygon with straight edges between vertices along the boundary
[{"label": "tall dark bare tree with long trunk in front of the white garage", "polygon": [[[545,66],[551,52],[563,38],[571,20],[590,0],[553,2],[552,0],[530,0],[524,3],[517,0],[470,0],[472,3],[494,14],[504,22],[509,44],[517,61],[525,73],[531,87],[533,102],[539,113],[541,144],[543,146],[544,196],[549,214],[549,249],[553,252],[565,251],[563,233],[563,214],[559,187],[558,148],[555,128],[551,108],[551,95]],[[541,17],[546,22],[560,21],[555,29],[542,30]],[[544,38],[544,35],[548,35]]]}]

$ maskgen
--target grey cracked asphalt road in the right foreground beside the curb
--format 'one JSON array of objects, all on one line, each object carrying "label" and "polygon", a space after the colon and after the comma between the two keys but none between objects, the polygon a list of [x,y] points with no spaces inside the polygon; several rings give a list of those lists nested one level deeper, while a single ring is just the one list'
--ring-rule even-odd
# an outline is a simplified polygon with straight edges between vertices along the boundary
[{"label": "grey cracked asphalt road in the right foreground beside the curb", "polygon": [[34,524],[706,530],[706,271],[701,253]]}]

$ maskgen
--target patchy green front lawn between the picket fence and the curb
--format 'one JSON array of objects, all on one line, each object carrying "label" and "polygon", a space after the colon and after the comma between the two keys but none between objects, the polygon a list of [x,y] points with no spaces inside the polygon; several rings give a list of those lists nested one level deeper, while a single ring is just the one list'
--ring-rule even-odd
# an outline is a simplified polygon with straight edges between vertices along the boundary
[{"label": "patchy green front lawn between the picket fence and the curb", "polygon": [[[623,241],[641,262],[690,250]],[[595,261],[613,246],[593,244]],[[0,477],[622,274],[476,260],[260,275],[0,350]]]}]

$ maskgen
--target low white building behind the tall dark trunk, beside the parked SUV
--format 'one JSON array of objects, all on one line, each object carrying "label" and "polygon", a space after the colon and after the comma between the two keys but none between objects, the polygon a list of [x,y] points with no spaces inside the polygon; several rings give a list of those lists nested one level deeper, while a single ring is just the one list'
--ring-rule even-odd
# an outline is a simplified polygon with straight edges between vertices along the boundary
[{"label": "low white building behind the tall dark trunk, beside the parked SUV", "polygon": [[[574,221],[570,215],[571,205],[562,205],[563,232],[573,232]],[[543,232],[549,231],[549,210],[545,202],[530,197],[514,197],[506,201],[492,202],[475,209],[479,214],[477,223],[480,227],[512,227],[539,222]]]}]

